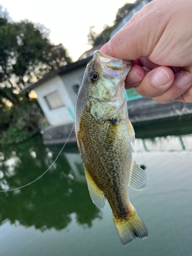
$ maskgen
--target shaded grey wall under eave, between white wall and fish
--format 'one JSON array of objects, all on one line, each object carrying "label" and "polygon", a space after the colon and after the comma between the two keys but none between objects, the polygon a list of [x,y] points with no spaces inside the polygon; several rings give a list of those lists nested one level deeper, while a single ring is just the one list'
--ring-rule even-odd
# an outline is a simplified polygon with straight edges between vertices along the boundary
[{"label": "shaded grey wall under eave, between white wall and fish", "polygon": [[61,75],[61,79],[65,84],[65,87],[70,95],[73,105],[75,105],[75,99],[77,96],[77,93],[75,93],[73,86],[75,84],[79,84],[80,86],[85,69],[86,65],[84,67],[73,70],[72,72]]}]

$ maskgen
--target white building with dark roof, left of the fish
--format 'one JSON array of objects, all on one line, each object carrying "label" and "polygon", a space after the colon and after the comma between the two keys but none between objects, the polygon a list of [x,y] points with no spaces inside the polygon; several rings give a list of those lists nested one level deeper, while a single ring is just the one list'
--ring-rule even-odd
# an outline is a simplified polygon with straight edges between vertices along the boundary
[{"label": "white building with dark roof, left of the fish", "polygon": [[28,84],[23,92],[34,90],[38,103],[52,126],[74,122],[74,105],[88,57],[51,71],[35,83]]}]

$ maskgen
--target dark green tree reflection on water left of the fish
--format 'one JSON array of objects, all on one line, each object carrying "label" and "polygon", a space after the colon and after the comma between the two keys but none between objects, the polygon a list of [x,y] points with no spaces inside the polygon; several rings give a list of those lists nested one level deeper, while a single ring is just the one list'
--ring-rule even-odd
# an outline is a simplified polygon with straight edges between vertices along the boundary
[{"label": "dark green tree reflection on water left of the fish", "polygon": [[[44,231],[66,228],[72,214],[78,224],[88,227],[94,219],[101,218],[84,182],[77,147],[72,146],[72,152],[66,149],[67,154],[63,151],[40,180],[26,188],[0,194],[0,223],[7,219],[11,224],[18,222]],[[22,186],[37,178],[51,165],[59,150],[42,145],[40,137],[13,146],[11,151],[4,150],[0,159],[1,189]]]}]

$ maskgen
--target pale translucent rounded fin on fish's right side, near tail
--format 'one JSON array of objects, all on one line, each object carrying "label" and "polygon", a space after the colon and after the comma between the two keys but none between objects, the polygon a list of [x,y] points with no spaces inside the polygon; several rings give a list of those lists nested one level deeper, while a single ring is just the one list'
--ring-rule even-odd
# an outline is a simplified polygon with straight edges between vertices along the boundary
[{"label": "pale translucent rounded fin on fish's right side, near tail", "polygon": [[132,161],[131,175],[129,186],[134,190],[143,190],[148,184],[148,176],[146,172],[136,163]]}]

